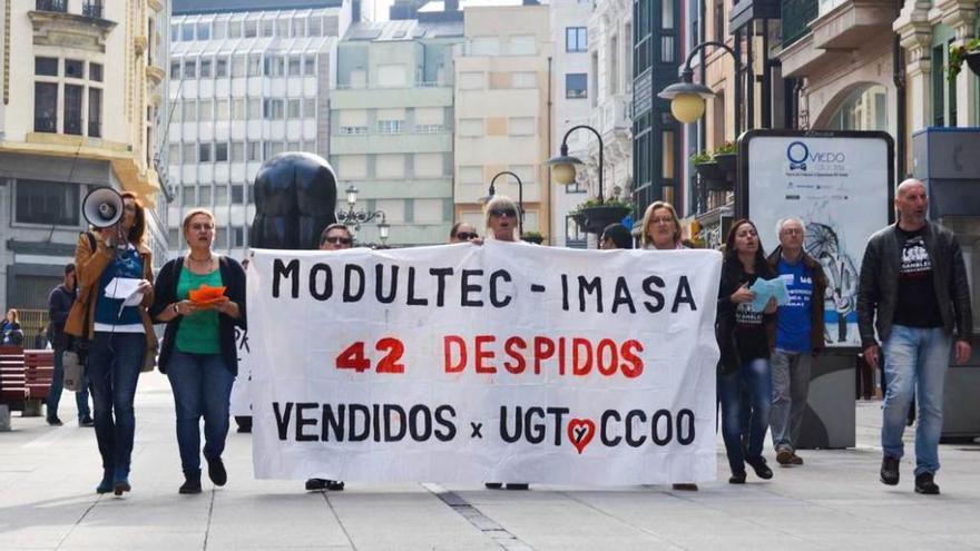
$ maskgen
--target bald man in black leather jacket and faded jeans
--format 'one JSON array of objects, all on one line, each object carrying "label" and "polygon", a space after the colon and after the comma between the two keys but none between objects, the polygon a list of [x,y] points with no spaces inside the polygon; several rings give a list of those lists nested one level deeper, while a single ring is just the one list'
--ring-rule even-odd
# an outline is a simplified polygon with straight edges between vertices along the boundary
[{"label": "bald man in black leather jacket and faded jeans", "polygon": [[[955,361],[970,357],[973,333],[963,253],[952,232],[925,219],[925,185],[908,179],[895,190],[899,222],[868,240],[861,264],[857,324],[864,358],[876,367],[884,352],[884,419],[881,481],[899,483],[902,433],[912,396],[915,429],[915,492],[938,494],[942,387],[955,331]],[[914,392],[913,392],[914,390]]]}]

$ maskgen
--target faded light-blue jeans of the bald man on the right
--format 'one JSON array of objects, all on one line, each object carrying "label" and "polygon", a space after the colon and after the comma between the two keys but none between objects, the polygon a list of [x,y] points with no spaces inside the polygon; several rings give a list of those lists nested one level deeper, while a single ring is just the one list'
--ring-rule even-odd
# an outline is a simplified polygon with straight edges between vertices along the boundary
[{"label": "faded light-blue jeans of the bald man on the right", "polygon": [[952,338],[942,327],[918,328],[893,325],[882,344],[884,376],[884,420],[881,447],[885,455],[901,459],[902,433],[909,406],[915,396],[919,415],[915,425],[915,474],[939,471],[939,437],[942,433],[942,386],[949,366]]}]

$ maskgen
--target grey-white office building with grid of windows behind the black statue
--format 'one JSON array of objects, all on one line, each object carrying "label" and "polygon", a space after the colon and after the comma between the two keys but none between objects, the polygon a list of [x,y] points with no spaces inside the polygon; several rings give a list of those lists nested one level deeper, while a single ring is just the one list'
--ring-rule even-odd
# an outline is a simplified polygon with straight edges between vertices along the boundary
[{"label": "grey-white office building with grid of windows behind the black statue", "polygon": [[215,250],[244,257],[263,160],[283,151],[330,156],[330,90],[352,4],[286,4],[175,2],[167,132],[171,252],[187,248],[185,213],[206,207],[216,218]]}]

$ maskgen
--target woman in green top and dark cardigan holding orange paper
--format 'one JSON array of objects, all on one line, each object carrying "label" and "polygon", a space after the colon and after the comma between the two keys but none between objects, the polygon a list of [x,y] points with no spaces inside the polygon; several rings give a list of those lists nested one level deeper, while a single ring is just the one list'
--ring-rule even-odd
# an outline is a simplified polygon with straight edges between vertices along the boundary
[{"label": "woman in green top and dark cardigan holding orange paper", "polygon": [[228,400],[238,371],[235,326],[245,328],[245,270],[212,252],[214,215],[204,208],[184,217],[186,257],[160,269],[151,313],[166,323],[159,367],[174,390],[177,445],[184,469],[179,493],[200,493],[200,417],[204,457],[215,485],[228,480],[222,461],[228,435]]}]

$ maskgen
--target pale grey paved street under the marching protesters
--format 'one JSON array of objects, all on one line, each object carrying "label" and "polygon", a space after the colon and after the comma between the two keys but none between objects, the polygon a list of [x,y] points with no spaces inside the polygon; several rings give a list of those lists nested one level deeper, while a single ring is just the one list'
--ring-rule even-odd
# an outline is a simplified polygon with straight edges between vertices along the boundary
[{"label": "pale grey paved street under the marching protesters", "polygon": [[137,394],[125,499],[95,493],[95,434],[68,422],[74,405],[66,394],[62,427],[14,414],[14,432],[0,433],[0,549],[980,549],[980,445],[941,447],[941,496],[912,492],[911,457],[902,483],[886,488],[879,403],[859,402],[857,449],[801,452],[806,465],[775,468],[771,482],[749,474],[745,486],[727,484],[719,440],[719,482],[696,493],[356,483],[306,493],[302,481],[253,480],[249,436],[233,433],[228,484],[212,491],[205,481],[187,496],[177,494],[170,390],[153,373]]}]

